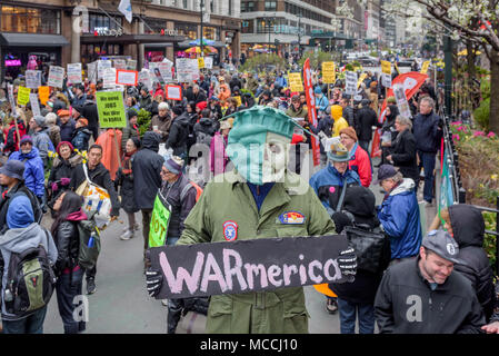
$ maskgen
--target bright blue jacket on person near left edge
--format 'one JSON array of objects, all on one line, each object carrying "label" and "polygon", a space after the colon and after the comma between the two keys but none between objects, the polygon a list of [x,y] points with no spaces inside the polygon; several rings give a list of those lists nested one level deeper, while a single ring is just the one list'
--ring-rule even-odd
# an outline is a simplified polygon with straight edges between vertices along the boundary
[{"label": "bright blue jacket on person near left edge", "polygon": [[[37,196],[43,197],[46,177],[43,175],[43,161],[40,158],[38,148],[33,148],[29,154],[22,154],[20,150],[10,155],[9,160],[17,159],[24,162],[24,185]],[[26,161],[24,161],[26,159]]]}]

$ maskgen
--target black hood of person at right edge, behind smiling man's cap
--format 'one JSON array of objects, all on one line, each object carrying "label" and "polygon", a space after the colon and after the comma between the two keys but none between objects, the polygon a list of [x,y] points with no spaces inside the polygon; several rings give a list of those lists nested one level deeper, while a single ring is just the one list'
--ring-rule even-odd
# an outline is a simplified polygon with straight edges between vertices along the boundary
[{"label": "black hood of person at right edge, behind smiling man's cap", "polygon": [[459,248],[467,246],[483,246],[485,221],[477,208],[458,204],[449,207],[450,225],[453,238]]}]

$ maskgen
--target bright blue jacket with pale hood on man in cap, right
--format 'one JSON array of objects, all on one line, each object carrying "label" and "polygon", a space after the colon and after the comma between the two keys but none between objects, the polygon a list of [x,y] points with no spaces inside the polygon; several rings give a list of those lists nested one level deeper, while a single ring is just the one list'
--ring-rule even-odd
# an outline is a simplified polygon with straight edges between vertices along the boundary
[{"label": "bright blue jacket with pale hood on man in cap, right", "polygon": [[405,178],[387,198],[378,211],[378,218],[390,236],[391,259],[419,254],[421,246],[421,221],[419,206],[413,191],[415,181]]}]

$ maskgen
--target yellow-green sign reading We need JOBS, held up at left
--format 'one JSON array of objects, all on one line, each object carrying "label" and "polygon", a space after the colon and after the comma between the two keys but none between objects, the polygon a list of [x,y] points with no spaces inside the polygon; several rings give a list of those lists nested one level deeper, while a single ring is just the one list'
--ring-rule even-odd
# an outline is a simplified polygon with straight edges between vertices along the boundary
[{"label": "yellow-green sign reading We need JOBS, held up at left", "polygon": [[121,91],[97,91],[96,97],[101,128],[127,127],[123,93]]}]

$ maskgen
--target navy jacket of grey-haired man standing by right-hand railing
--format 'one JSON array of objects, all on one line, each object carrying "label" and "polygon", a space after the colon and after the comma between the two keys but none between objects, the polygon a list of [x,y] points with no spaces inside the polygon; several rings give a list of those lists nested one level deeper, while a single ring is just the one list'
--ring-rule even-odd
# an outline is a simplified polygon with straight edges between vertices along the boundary
[{"label": "navy jacket of grey-haired man standing by right-hand railing", "polygon": [[412,131],[416,138],[416,149],[435,154],[440,148],[442,130],[439,129],[440,118],[435,111],[430,115],[418,113],[412,125]]}]

